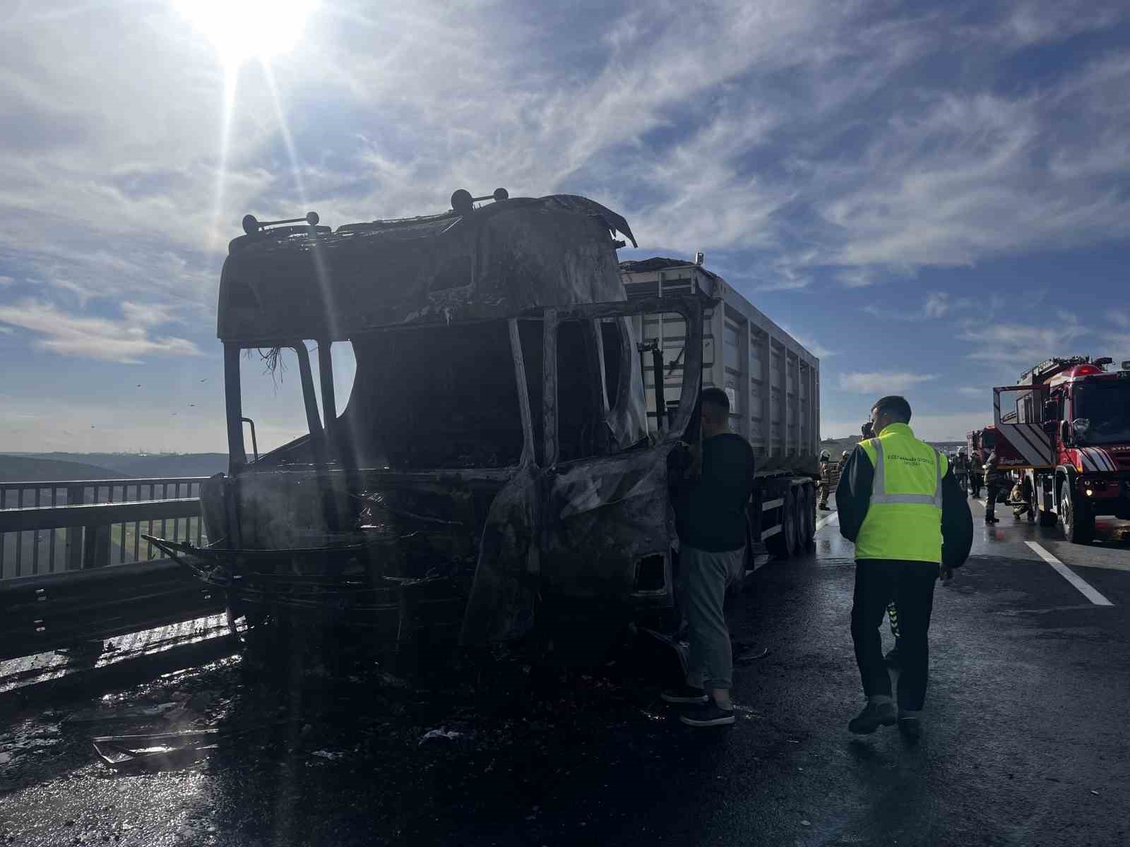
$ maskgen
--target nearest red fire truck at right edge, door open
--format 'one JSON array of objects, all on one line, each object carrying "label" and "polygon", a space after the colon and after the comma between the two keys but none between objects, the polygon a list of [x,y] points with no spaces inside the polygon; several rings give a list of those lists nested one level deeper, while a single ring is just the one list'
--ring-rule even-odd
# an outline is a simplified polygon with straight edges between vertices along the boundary
[{"label": "nearest red fire truck at right edge, door open", "polygon": [[1057,519],[1074,543],[1095,534],[1095,518],[1130,518],[1130,361],[1052,358],[1016,385],[993,388],[1000,466],[1032,483],[1033,510]]}]

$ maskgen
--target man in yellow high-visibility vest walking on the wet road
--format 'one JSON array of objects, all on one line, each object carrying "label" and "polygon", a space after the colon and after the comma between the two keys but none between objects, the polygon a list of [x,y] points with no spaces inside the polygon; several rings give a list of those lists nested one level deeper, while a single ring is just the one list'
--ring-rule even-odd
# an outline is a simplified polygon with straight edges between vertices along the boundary
[{"label": "man in yellow high-visibility vest walking on the wet road", "polygon": [[[860,442],[840,478],[840,532],[855,542],[851,634],[867,707],[847,724],[872,733],[898,723],[921,735],[929,667],[927,634],[935,580],[948,579],[973,544],[973,517],[946,456],[914,437],[911,407],[886,396],[871,408],[876,437]],[[898,711],[879,627],[898,608]]]}]

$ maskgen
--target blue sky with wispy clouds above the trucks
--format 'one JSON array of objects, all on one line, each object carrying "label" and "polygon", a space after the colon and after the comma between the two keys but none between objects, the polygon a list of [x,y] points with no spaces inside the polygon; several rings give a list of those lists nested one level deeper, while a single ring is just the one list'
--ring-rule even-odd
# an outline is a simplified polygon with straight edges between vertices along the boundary
[{"label": "blue sky with wispy clouds above the trucks", "polygon": [[[0,451],[226,451],[240,218],[455,187],[592,197],[624,259],[704,251],[820,357],[825,436],[892,392],[960,436],[1045,356],[1130,359],[1122,2],[303,0],[237,67],[257,2],[214,3],[226,33],[172,0],[0,8]],[[297,386],[261,372],[272,444]]]}]

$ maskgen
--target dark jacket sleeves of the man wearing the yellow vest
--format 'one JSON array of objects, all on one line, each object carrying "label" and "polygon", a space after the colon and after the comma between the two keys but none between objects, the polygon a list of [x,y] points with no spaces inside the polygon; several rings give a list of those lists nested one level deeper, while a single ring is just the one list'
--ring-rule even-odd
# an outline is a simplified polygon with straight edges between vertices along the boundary
[{"label": "dark jacket sleeves of the man wearing the yellow vest", "polygon": [[[840,514],[840,534],[855,541],[863,518],[871,506],[871,481],[875,468],[864,449],[853,449],[840,478],[836,491],[836,510]],[[941,562],[949,568],[965,564],[973,547],[973,515],[962,494],[954,469],[941,479]]]}]

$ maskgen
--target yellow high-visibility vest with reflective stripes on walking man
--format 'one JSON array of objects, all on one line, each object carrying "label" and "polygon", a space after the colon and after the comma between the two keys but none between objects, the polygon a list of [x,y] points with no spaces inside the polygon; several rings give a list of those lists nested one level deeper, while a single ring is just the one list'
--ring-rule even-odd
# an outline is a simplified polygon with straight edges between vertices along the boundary
[{"label": "yellow high-visibility vest with reflective stripes on walking man", "polygon": [[905,424],[892,424],[859,446],[875,478],[855,558],[940,562],[941,478],[948,460]]}]

